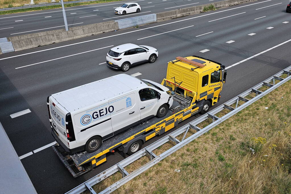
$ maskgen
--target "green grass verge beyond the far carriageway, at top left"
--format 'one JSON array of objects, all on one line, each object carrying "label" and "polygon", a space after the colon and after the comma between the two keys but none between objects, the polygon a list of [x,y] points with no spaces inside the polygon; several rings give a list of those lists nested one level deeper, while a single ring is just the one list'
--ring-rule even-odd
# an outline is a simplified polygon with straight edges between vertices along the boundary
[{"label": "green grass verge beyond the far carriageway, at top left", "polygon": [[[71,1],[73,1],[73,0],[71,0]],[[108,3],[108,2],[113,2],[113,1],[120,1],[120,0],[99,0],[99,1],[89,1],[89,2],[83,2],[83,3],[70,3],[70,4],[64,4],[64,6],[65,7],[74,7],[74,6],[83,6],[83,5],[90,5],[90,4],[97,4],[97,3]],[[29,3],[29,2],[30,2],[29,0],[0,0],[0,8],[23,6],[25,3]],[[39,2],[45,2],[45,0],[39,0],[39,1],[34,0],[34,3],[39,3]],[[56,1],[56,2],[58,2],[58,1]],[[0,15],[11,14],[11,13],[29,12],[29,11],[56,9],[56,8],[61,8],[61,7],[62,7],[61,5],[55,5],[55,6],[44,6],[44,7],[37,7],[37,8],[0,11]]]}]

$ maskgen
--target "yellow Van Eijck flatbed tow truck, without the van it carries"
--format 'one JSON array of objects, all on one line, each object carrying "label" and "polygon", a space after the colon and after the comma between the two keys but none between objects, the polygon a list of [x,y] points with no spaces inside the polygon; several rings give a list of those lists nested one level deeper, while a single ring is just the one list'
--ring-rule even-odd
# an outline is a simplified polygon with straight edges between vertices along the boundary
[{"label": "yellow Van Eijck flatbed tow truck, without the van it carries", "polygon": [[[222,71],[224,71],[222,75]],[[52,146],[73,177],[78,177],[106,161],[106,154],[118,151],[124,157],[139,151],[152,137],[176,127],[180,122],[200,112],[205,114],[220,98],[226,80],[225,66],[198,56],[177,57],[168,62],[167,76],[162,85],[168,87],[173,106],[164,118],[152,117],[141,124],[105,140],[95,152],[69,154],[63,146]]]}]

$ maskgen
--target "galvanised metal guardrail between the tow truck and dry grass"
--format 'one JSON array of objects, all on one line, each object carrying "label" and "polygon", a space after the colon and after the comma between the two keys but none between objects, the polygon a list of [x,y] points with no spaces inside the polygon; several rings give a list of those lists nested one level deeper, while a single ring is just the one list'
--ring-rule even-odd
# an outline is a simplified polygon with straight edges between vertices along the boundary
[{"label": "galvanised metal guardrail between the tow truck and dry grass", "polygon": [[[283,74],[287,74],[287,78],[281,78]],[[177,151],[178,149],[182,148],[183,146],[187,145],[197,137],[201,136],[202,134],[208,132],[213,127],[217,126],[221,122],[225,121],[226,119],[230,118],[237,112],[241,111],[242,109],[246,108],[250,104],[254,103],[256,100],[262,98],[269,92],[273,91],[283,83],[291,80],[291,66],[287,67],[286,69],[276,73],[274,76],[266,79],[265,81],[261,82],[260,84],[252,87],[251,89],[243,92],[242,94],[236,96],[235,98],[228,100],[226,103],[216,107],[215,109],[209,111],[208,113],[196,118],[195,120],[191,121],[190,123],[180,127],[179,129],[173,131],[172,133],[164,136],[163,138],[157,140],[156,142],[150,144],[149,146],[143,148],[139,152],[136,152],[135,154],[125,158],[124,160],[120,161],[119,163],[111,166],[107,170],[104,170],[102,173],[94,176],[93,178],[87,180],[86,182],[80,184],[79,186],[73,188],[71,191],[68,191],[66,194],[72,194],[72,193],[81,193],[83,191],[88,190],[90,193],[95,194],[96,192],[93,190],[92,186],[101,182],[105,178],[109,177],[110,175],[120,171],[123,175],[123,178],[117,181],[116,183],[112,184],[111,186],[107,187],[100,193],[111,193],[112,191],[116,190],[129,180],[133,179],[134,177],[140,175],[142,172],[147,170],[148,168],[154,166],[159,161],[164,159],[165,157],[171,155],[173,152]],[[278,83],[276,83],[276,81]],[[260,91],[259,89],[263,86],[269,87],[269,89],[265,91]],[[245,98],[251,93],[255,93],[255,97],[252,99]],[[244,104],[238,106],[239,101],[244,102]],[[222,117],[217,117],[215,114],[221,112],[224,109],[230,110],[229,113],[225,114]],[[204,127],[203,129],[200,129],[197,125],[207,119],[212,119],[212,123]],[[189,136],[187,139],[184,139],[189,129],[194,129],[197,132],[193,135]],[[176,137],[180,134],[184,133],[184,137],[182,140],[178,140]],[[159,156],[155,155],[152,151],[158,148],[159,146],[162,146],[164,143],[168,141],[173,141],[176,143],[175,146],[172,148],[166,150]],[[149,155],[150,161],[146,163],[145,165],[141,166],[140,168],[134,170],[132,173],[128,173],[124,167],[131,164],[132,162],[136,161],[137,159]]]}]

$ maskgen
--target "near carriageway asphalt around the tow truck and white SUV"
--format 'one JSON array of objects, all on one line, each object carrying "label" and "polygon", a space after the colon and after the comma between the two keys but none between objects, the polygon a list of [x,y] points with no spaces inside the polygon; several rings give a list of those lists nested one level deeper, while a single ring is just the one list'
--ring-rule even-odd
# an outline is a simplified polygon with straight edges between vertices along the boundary
[{"label": "near carriageway asphalt around the tow truck and white SUV", "polygon": [[[155,63],[126,72],[140,72],[141,78],[155,82],[162,81],[167,62],[177,56],[200,55],[226,65],[228,77],[220,105],[291,65],[291,41],[286,42],[290,40],[291,14],[285,12],[285,4],[282,0],[255,1],[0,55],[0,121],[19,156],[52,143],[47,96],[123,73],[102,63],[113,45],[124,43],[157,48],[159,58]],[[227,43],[230,40],[234,42]],[[209,51],[200,52],[205,49]],[[31,112],[10,117],[25,109]],[[78,178],[70,175],[51,148],[21,161],[38,193],[64,193],[122,159],[112,153],[106,163]]]}]

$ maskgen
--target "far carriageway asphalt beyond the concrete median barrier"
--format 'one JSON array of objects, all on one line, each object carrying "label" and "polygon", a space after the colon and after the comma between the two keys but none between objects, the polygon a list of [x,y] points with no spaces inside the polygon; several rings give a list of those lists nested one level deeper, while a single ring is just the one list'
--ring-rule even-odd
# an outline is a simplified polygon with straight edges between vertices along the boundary
[{"label": "far carriageway asphalt beyond the concrete median barrier", "polygon": [[[220,0],[114,1],[86,6],[68,7],[65,8],[65,10],[68,25],[70,25],[69,27],[72,27],[159,13],[195,5],[204,5],[214,1]],[[120,7],[125,2],[139,3],[141,6],[141,12],[129,13],[127,15],[116,15],[114,13],[114,8]],[[61,9],[0,15],[0,26],[0,38],[65,28]]]}]

